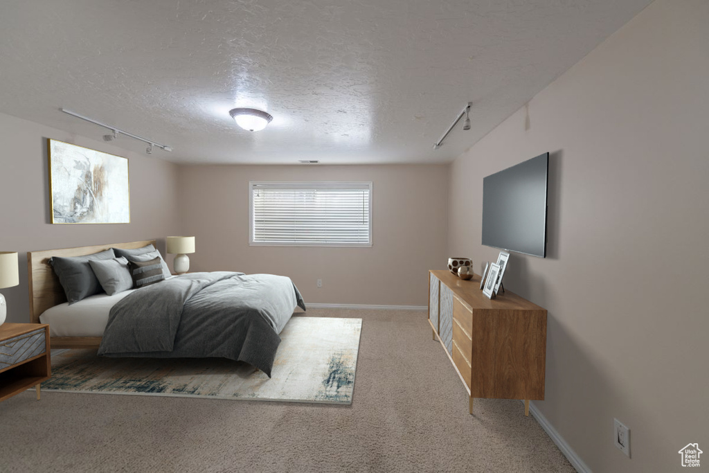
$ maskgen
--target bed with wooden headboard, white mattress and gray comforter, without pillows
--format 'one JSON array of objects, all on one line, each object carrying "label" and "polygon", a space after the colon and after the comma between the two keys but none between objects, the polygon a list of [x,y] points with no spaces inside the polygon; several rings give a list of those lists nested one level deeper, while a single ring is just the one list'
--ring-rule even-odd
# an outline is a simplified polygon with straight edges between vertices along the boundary
[{"label": "bed with wooden headboard, white mattress and gray comforter, without pillows", "polygon": [[270,376],[278,334],[296,306],[305,308],[287,277],[191,273],[67,304],[50,258],[146,245],[155,241],[28,252],[31,318],[50,324],[51,347],[98,348],[113,357],[226,357]]}]

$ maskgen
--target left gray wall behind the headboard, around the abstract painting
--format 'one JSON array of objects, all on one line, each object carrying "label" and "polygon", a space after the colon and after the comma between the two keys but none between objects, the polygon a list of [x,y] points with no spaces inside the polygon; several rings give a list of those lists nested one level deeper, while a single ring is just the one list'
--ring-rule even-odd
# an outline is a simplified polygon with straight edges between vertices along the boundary
[{"label": "left gray wall behind the headboard, around the abstract painting", "polygon": [[[130,223],[50,223],[46,138],[128,157]],[[164,238],[179,229],[176,165],[1,113],[0,143],[0,251],[20,260],[20,285],[0,289],[7,321],[30,321],[28,251],[157,239],[164,255]]]}]

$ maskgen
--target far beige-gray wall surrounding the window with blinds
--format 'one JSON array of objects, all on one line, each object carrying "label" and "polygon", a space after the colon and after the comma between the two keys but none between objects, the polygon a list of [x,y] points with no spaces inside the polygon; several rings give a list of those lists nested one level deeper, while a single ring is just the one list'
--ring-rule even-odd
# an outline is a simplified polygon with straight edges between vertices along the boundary
[{"label": "far beige-gray wall surrounding the window with blinds", "polygon": [[[306,304],[425,306],[427,271],[447,262],[447,166],[184,166],[179,180],[191,268],[283,274]],[[372,181],[372,247],[250,246],[249,181]]]}]

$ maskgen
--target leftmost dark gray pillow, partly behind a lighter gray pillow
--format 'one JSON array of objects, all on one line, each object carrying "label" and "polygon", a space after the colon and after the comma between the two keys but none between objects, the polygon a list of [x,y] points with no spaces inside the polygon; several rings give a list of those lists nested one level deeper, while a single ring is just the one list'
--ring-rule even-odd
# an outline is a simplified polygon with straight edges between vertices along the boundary
[{"label": "leftmost dark gray pillow, partly behind a lighter gray pillow", "polygon": [[113,250],[106,250],[93,255],[55,256],[50,258],[49,263],[59,277],[59,282],[67,295],[67,301],[69,304],[74,304],[103,291],[99,279],[96,278],[94,270],[89,265],[89,260],[111,260],[114,257],[116,254],[113,253]]}]

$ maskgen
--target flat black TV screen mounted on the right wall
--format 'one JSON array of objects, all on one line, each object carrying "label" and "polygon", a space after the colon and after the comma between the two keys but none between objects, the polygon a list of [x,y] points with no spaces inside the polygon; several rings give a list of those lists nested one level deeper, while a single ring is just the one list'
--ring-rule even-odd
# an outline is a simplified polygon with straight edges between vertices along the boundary
[{"label": "flat black TV screen mounted on the right wall", "polygon": [[483,245],[547,256],[549,153],[483,179]]}]

